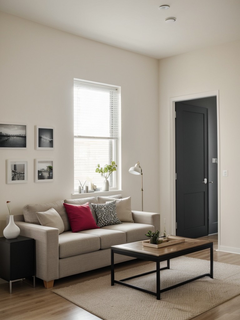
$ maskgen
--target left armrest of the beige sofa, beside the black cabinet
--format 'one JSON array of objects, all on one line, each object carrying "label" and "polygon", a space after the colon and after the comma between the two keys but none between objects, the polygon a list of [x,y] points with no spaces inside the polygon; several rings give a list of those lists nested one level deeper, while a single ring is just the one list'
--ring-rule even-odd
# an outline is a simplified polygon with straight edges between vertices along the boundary
[{"label": "left armrest of the beige sofa, beside the black cabinet", "polygon": [[58,229],[16,221],[20,235],[35,239],[36,277],[45,281],[59,278]]}]

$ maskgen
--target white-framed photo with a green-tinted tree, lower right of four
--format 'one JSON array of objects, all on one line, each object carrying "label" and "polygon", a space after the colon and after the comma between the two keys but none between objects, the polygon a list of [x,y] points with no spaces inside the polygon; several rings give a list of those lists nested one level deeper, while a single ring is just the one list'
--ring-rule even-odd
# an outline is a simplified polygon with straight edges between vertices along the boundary
[{"label": "white-framed photo with a green-tinted tree, lower right of four", "polygon": [[53,181],[53,160],[51,159],[35,159],[35,182],[51,182]]}]

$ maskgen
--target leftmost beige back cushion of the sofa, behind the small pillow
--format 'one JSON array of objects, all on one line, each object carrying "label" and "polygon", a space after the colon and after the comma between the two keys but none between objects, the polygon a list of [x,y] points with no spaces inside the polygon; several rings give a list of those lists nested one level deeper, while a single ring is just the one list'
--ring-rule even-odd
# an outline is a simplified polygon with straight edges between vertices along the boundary
[{"label": "leftmost beige back cushion of the sofa, behind the small pillow", "polygon": [[70,224],[68,221],[67,212],[63,206],[63,200],[59,200],[56,202],[49,202],[43,204],[27,204],[23,207],[23,215],[25,222],[39,224],[40,222],[37,219],[36,212],[45,212],[50,208],[55,209],[60,217],[62,218],[64,224],[64,231],[70,230]]}]

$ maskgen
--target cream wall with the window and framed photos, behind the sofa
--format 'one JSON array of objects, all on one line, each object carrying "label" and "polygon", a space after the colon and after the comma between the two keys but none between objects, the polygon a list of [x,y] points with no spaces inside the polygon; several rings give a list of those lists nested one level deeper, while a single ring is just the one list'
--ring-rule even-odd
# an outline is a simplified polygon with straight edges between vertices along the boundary
[{"label": "cream wall with the window and framed photos, behind the sofa", "polygon": [[[123,196],[141,210],[159,212],[158,60],[74,36],[0,12],[0,121],[28,125],[27,150],[0,150],[0,236],[12,214],[29,203],[73,193],[73,78],[121,86]],[[55,127],[55,150],[34,149],[34,126]],[[91,124],[89,124],[91,125]],[[55,180],[34,183],[34,159],[52,158]],[[6,159],[27,159],[28,183],[6,184]],[[118,193],[118,192],[117,192]]]}]

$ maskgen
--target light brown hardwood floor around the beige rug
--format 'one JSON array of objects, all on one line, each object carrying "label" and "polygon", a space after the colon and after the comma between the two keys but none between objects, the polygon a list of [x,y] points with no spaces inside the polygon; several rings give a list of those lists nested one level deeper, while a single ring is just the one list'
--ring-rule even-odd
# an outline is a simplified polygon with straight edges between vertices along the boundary
[{"label": "light brown hardwood floor around the beige rug", "polygon": [[[214,261],[240,265],[240,255],[227,252],[218,252],[217,236],[207,236],[214,242]],[[209,260],[209,251],[196,252],[189,257]],[[146,261],[131,260],[118,264],[116,271],[147,264]],[[79,275],[65,277],[54,281],[54,288],[61,288],[100,276],[110,274],[110,267],[101,268]],[[36,288],[29,284],[30,280],[18,281],[12,284],[12,294],[9,294],[9,284],[0,285],[0,319],[1,320],[97,320],[100,319],[91,313],[77,307],[75,304],[58,296],[52,289],[45,289],[43,281],[36,279]],[[121,317],[119,317],[120,320]],[[239,320],[240,295],[221,305],[197,316],[194,320]],[[136,319],[138,320],[138,319]],[[164,320],[164,319],[163,319]]]}]

